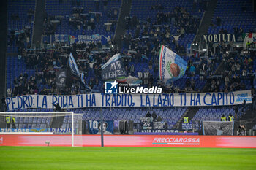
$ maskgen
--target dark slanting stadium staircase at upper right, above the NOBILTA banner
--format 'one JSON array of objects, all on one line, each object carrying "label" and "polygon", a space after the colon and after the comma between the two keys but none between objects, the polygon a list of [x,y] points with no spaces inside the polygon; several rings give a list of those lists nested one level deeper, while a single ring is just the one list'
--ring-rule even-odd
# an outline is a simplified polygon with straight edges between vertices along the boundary
[{"label": "dark slanting stadium staircase at upper right, above the NOBILTA banner", "polygon": [[217,5],[216,0],[208,1],[206,11],[203,14],[203,18],[202,18],[200,26],[197,30],[197,35],[195,36],[195,42],[200,42],[201,36],[203,34],[207,34],[208,27],[211,24],[211,18],[214,15],[214,9],[215,9],[216,5]]}]

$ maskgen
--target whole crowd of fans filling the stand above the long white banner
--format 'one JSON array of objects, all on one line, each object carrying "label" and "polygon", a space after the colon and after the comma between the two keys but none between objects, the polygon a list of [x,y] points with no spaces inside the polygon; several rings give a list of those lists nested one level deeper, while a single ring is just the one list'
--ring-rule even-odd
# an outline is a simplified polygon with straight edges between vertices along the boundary
[{"label": "whole crowd of fans filling the stand above the long white banner", "polygon": [[[95,1],[95,7],[97,6],[98,3]],[[184,89],[174,84],[170,86],[163,85],[159,81],[159,61],[155,57],[159,55],[160,45],[170,47],[171,42],[175,45],[174,51],[176,53],[179,55],[184,54],[186,50],[178,44],[178,38],[182,38],[187,33],[195,33],[200,19],[189,15],[186,9],[182,7],[175,7],[171,12],[162,12],[164,7],[161,5],[151,7],[151,10],[156,9],[159,12],[157,12],[156,18],[153,19],[147,18],[146,21],[143,21],[138,20],[136,16],[126,18],[127,30],[135,30],[135,32],[129,31],[129,33],[121,36],[121,49],[111,47],[109,44],[107,45],[108,50],[93,53],[100,48],[99,46],[102,46],[100,43],[75,42],[68,47],[64,44],[56,43],[50,50],[37,47],[37,50],[31,51],[26,50],[23,43],[24,37],[26,39],[26,37],[30,36],[31,31],[29,29],[20,31],[20,34],[16,36],[11,34],[10,43],[15,39],[16,45],[19,47],[19,58],[25,61],[28,69],[34,69],[36,73],[31,77],[26,73],[20,74],[13,81],[14,88],[8,87],[8,96],[18,96],[26,93],[88,93],[89,91],[86,91],[80,79],[72,76],[67,82],[67,88],[56,88],[56,72],[61,68],[68,69],[67,59],[70,52],[74,55],[80,72],[84,72],[86,75],[86,86],[94,91],[99,90],[99,92],[102,92],[104,89],[100,66],[116,53],[121,53],[128,75],[138,77],[138,74],[135,72],[135,66],[140,66],[138,65],[140,63],[146,63],[146,68],[141,70],[143,73],[143,76],[140,77],[143,80],[142,84],[148,87],[152,85],[162,86],[164,93],[178,93],[180,90],[200,92],[203,89],[197,89],[197,81],[207,81],[207,90],[213,92],[244,90],[246,88],[246,80],[249,80],[250,85],[253,87],[255,73],[253,72],[252,61],[255,60],[255,55],[246,54],[246,56],[242,56],[240,53],[236,53],[236,55],[226,53],[227,51],[234,50],[232,43],[229,43],[227,46],[224,43],[217,45],[214,55],[210,53],[208,56],[205,56],[206,54],[203,53],[198,58],[187,58],[186,75],[190,78],[185,80],[186,85]],[[89,12],[84,14],[83,11],[83,7],[74,7],[72,9],[72,16],[69,17],[69,24],[78,30],[94,30],[95,24],[101,18],[101,13]],[[115,17],[117,15],[116,12],[115,9],[111,9],[110,13],[113,15],[109,15],[109,17]],[[45,13],[44,33],[54,34],[56,26],[61,24],[61,20],[63,20],[61,16],[47,15]],[[154,20],[154,22],[152,23],[151,20]],[[218,22],[220,22],[218,24],[221,24],[221,21]],[[170,31],[168,31],[171,24],[174,24],[177,28],[176,35],[171,35]],[[236,31],[237,29],[235,29],[236,36],[242,36],[244,31],[242,29]],[[112,43],[115,45],[116,42]],[[208,45],[208,47],[210,47],[209,50],[211,51],[213,45]],[[226,69],[221,72],[215,72],[219,63],[224,64]],[[145,73],[148,73],[147,76],[144,76]],[[199,79],[197,75],[199,75]]]}]

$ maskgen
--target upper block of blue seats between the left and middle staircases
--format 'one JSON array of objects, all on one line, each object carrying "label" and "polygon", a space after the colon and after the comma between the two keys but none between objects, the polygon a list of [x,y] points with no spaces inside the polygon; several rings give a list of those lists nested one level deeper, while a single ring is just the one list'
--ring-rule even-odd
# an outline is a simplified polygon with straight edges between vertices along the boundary
[{"label": "upper block of blue seats between the left and middle staircases", "polygon": [[[116,22],[121,1],[108,1],[106,7],[103,3],[94,1],[80,1],[74,5],[72,1],[59,3],[48,0],[45,4],[45,12],[50,18],[50,25],[54,28],[54,34],[67,34],[70,36],[99,34],[113,37],[116,30]],[[60,18],[60,19],[59,19]],[[61,23],[53,26],[53,20]],[[110,29],[107,30],[107,23]]]}]

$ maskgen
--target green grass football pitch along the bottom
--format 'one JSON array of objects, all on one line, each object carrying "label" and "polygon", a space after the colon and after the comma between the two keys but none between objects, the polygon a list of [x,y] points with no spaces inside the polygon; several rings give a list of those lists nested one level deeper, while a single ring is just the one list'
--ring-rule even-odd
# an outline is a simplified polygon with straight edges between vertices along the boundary
[{"label": "green grass football pitch along the bottom", "polygon": [[256,149],[0,147],[0,169],[256,169]]}]

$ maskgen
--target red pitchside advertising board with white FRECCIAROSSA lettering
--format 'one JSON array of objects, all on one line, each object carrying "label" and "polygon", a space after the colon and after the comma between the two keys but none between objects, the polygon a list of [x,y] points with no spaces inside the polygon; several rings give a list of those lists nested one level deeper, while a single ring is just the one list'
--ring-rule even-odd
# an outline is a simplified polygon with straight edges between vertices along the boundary
[{"label": "red pitchside advertising board with white FRECCIAROSSA lettering", "polygon": [[[71,146],[71,135],[0,134],[0,146]],[[75,135],[75,146],[101,146],[100,135]],[[256,148],[256,136],[105,135],[107,147],[240,147]]]}]

